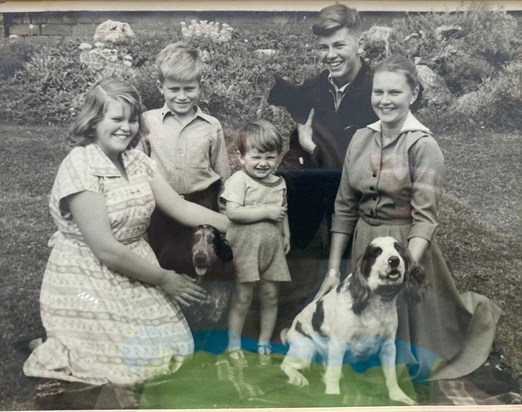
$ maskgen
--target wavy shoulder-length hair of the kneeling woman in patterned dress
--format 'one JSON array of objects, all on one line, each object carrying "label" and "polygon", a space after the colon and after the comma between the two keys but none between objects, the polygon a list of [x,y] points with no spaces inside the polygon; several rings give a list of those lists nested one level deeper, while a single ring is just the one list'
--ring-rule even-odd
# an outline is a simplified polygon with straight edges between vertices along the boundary
[{"label": "wavy shoulder-length hair of the kneeling woman in patterned dress", "polygon": [[107,105],[112,101],[128,104],[131,108],[131,117],[138,119],[138,133],[129,145],[135,147],[145,128],[141,116],[144,109],[141,97],[132,84],[114,78],[100,80],[87,93],[85,102],[73,121],[67,142],[71,146],[85,146],[92,143],[96,125],[103,119]]}]

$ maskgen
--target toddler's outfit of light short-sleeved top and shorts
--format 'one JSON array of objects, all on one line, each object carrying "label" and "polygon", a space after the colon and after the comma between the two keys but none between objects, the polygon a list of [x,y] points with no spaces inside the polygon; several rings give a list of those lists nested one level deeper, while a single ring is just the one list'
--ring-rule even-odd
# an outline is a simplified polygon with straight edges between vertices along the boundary
[{"label": "toddler's outfit of light short-sleeved top and shorts", "polygon": [[[225,182],[221,197],[242,206],[283,206],[286,205],[286,184],[282,177],[267,183],[239,170]],[[234,252],[238,282],[290,280],[281,223],[268,220],[251,224],[232,222],[227,239]]]}]

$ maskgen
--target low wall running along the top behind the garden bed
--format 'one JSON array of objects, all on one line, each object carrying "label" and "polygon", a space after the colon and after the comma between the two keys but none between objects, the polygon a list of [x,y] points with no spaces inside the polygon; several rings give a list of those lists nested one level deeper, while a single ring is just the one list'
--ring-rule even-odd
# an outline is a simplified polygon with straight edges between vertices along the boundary
[{"label": "low wall running along the top behind the garden bed", "polygon": [[[105,20],[124,21],[132,29],[139,32],[166,32],[179,28],[182,21],[191,20],[218,21],[228,23],[238,30],[249,31],[269,30],[271,28],[286,28],[291,32],[308,33],[311,22],[317,12],[198,12],[198,11],[69,11],[69,12],[20,12],[3,13],[2,22],[5,36],[19,37],[92,37],[96,26]],[[392,19],[402,16],[397,12],[362,12],[365,26],[389,23]],[[1,14],[0,14],[1,16]]]}]

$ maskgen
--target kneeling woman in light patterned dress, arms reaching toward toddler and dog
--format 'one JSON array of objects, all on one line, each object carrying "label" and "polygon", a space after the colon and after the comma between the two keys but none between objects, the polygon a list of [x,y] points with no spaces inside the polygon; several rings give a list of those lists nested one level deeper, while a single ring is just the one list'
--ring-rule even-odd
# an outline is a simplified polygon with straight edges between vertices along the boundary
[{"label": "kneeling woman in light patterned dress, arms reaching toward toddler and dog", "polygon": [[133,86],[105,79],[88,93],[51,192],[58,231],[40,294],[47,340],[25,362],[28,376],[132,385],[193,352],[179,304],[205,292],[161,268],[144,235],[156,206],[188,226],[224,232],[228,220],[171,189],[134,149],[141,129]]}]

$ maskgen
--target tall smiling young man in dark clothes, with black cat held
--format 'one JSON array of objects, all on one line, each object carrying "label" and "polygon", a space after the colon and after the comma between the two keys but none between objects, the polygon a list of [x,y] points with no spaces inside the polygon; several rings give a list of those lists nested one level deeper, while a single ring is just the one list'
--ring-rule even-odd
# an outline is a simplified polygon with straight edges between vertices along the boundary
[{"label": "tall smiling young man in dark clothes, with black cat held", "polygon": [[281,293],[283,327],[315,295],[324,278],[346,149],[357,129],[377,120],[370,103],[372,71],[360,58],[363,44],[357,10],[341,4],[326,7],[312,30],[326,70],[302,85],[276,78],[268,98],[270,104],[285,107],[297,123],[279,168],[288,186],[292,238],[288,255],[292,282]]}]

